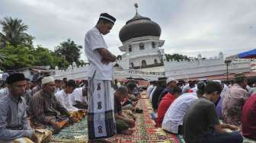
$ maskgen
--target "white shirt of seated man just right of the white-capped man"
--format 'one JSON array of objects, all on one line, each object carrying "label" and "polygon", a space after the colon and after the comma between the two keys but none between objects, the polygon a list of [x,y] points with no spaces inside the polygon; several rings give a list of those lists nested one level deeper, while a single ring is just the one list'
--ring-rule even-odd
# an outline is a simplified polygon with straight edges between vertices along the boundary
[{"label": "white shirt of seated man just right of the white-capped man", "polygon": [[56,99],[59,103],[62,104],[66,108],[66,110],[70,111],[77,111],[78,109],[75,106],[72,106],[71,101],[69,100],[69,94],[66,94],[64,90],[58,91],[56,94]]}]

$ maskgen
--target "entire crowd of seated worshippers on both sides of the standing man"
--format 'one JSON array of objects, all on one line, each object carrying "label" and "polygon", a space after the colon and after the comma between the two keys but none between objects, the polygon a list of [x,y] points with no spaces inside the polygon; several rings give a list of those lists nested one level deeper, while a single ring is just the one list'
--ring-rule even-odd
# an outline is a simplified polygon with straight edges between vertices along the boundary
[{"label": "entire crowd of seated worshippers on both sides of the standing man", "polygon": [[[244,74],[232,84],[221,81],[152,81],[146,97],[152,102],[155,127],[184,135],[186,142],[242,142],[256,139],[256,91]],[[114,92],[117,134],[132,135],[141,95],[135,81],[118,84]],[[57,88],[56,88],[57,85]],[[88,84],[55,80],[30,81],[9,75],[0,89],[0,141],[37,141],[36,129],[59,132],[75,121],[72,113],[88,109]]]}]

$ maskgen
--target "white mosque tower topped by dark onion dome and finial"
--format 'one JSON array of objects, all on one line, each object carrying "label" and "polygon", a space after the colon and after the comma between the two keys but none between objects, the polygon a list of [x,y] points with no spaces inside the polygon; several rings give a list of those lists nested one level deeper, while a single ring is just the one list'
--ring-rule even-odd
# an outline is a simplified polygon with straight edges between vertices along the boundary
[{"label": "white mosque tower topped by dark onion dome and finial", "polygon": [[135,16],[126,21],[119,33],[123,46],[119,49],[124,52],[119,61],[123,69],[141,69],[148,72],[164,72],[161,49],[165,40],[160,40],[161,27],[149,17],[142,17],[135,4]]}]

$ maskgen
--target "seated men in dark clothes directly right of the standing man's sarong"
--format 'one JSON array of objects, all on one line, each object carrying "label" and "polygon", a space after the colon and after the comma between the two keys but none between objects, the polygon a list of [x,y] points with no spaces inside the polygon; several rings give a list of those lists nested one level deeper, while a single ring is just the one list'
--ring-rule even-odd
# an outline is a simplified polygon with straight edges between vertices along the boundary
[{"label": "seated men in dark clothes directly right of the standing man's sarong", "polygon": [[120,84],[114,91],[114,113],[117,134],[132,135],[136,122],[135,113],[143,113],[137,105],[141,95],[136,81]]}]

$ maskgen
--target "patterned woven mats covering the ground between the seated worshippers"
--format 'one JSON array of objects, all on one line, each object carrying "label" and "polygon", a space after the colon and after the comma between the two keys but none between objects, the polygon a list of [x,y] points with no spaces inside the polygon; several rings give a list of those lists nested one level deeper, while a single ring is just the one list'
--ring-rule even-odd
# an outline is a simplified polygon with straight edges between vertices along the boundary
[{"label": "patterned woven mats covering the ground between the seated worshippers", "polygon": [[[142,94],[143,96],[143,94]],[[114,142],[124,143],[184,143],[182,135],[174,135],[165,132],[163,129],[155,128],[155,122],[151,119],[152,104],[149,99],[142,98],[139,100],[138,106],[143,110],[142,114],[136,113],[136,126],[133,135],[115,135]],[[72,126],[62,129],[50,142],[87,142],[88,141],[87,120],[76,122]],[[102,141],[98,141],[102,142]],[[256,141],[244,138],[244,143],[256,143]]]}]

